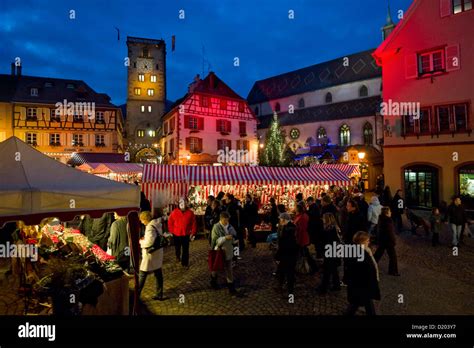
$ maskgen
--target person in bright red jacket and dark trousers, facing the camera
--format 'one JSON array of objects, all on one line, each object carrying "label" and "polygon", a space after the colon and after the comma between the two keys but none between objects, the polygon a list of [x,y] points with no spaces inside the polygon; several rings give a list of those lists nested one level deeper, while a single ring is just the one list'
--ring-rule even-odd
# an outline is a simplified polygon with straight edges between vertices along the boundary
[{"label": "person in bright red jacket and dark trousers, facing the camera", "polygon": [[[188,208],[184,198],[179,200],[178,208],[174,209],[168,219],[168,231],[173,235],[176,250],[176,261],[183,267],[189,266],[189,242],[196,235],[196,218]],[[181,255],[182,249],[182,255]]]}]

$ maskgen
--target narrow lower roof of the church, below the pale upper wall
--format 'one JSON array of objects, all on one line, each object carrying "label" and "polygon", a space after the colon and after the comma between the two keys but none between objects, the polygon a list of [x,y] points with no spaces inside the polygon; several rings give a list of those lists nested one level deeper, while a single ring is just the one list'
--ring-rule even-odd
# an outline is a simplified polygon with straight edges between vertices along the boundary
[{"label": "narrow lower roof of the church, below the pale upper wall", "polygon": [[[281,126],[290,126],[302,123],[340,120],[354,117],[375,115],[380,110],[380,96],[361,98],[341,103],[313,106],[305,109],[297,109],[293,114],[288,112],[278,113],[278,121]],[[273,115],[265,115],[259,118],[259,129],[268,128],[273,120]]]}]

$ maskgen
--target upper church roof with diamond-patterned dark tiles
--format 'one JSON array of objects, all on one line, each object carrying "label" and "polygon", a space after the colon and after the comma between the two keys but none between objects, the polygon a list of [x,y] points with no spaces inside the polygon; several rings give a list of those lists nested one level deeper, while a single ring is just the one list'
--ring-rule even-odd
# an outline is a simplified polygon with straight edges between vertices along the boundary
[{"label": "upper church roof with diamond-patterned dark tiles", "polygon": [[[249,104],[315,91],[344,83],[382,76],[382,70],[372,57],[373,49],[350,54],[328,62],[312,65],[269,77],[254,83],[247,96]],[[344,66],[344,58],[349,66]]]}]

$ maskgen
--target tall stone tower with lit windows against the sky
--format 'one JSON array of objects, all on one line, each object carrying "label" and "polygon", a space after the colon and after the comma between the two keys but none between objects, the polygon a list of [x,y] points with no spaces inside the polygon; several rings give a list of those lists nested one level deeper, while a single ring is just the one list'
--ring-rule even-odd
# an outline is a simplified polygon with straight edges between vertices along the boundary
[{"label": "tall stone tower with lit windows against the sky", "polygon": [[166,104],[166,45],[164,40],[128,36],[127,47],[127,151],[132,161],[154,161]]}]

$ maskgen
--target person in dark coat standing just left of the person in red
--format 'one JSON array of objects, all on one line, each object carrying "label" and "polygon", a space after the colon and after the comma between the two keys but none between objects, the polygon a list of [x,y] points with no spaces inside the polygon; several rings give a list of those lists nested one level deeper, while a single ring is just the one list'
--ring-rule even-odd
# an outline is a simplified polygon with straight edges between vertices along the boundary
[{"label": "person in dark coat standing just left of the person in red", "polygon": [[279,263],[278,280],[282,287],[286,278],[288,295],[290,295],[293,294],[295,287],[295,267],[298,258],[296,226],[291,222],[288,213],[280,214],[279,220],[281,235],[278,238],[278,250],[275,255],[275,259]]}]

